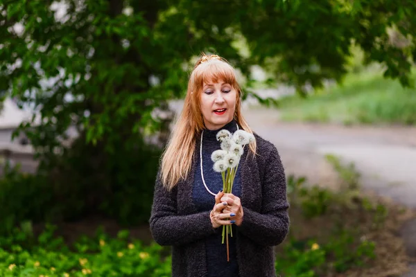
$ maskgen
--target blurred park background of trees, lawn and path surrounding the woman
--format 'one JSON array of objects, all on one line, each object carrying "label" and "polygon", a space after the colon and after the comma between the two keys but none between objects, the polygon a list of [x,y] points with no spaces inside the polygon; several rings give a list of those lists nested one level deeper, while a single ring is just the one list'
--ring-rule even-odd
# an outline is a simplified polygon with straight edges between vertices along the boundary
[{"label": "blurred park background of trees, lawn and path surrounding the woman", "polygon": [[416,276],[413,0],[0,0],[0,275],[171,276],[148,228],[198,55],[284,163],[278,276]]}]

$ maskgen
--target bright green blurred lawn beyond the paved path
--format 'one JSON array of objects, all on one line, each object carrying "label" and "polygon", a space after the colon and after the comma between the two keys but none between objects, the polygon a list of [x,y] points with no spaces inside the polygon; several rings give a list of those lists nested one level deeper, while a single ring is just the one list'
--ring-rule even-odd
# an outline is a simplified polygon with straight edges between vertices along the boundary
[{"label": "bright green blurred lawn beyond the paved path", "polygon": [[380,71],[350,73],[343,84],[307,98],[282,98],[279,109],[281,119],[287,121],[415,125],[416,89],[405,89],[399,81],[383,78]]}]

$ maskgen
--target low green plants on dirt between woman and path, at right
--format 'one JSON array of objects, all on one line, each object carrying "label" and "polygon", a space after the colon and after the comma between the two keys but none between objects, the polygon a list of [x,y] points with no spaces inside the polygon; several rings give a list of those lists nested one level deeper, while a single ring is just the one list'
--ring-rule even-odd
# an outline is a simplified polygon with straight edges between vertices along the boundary
[{"label": "low green plants on dirt between woman and path, at right", "polygon": [[[338,161],[332,157],[333,161]],[[339,161],[338,161],[339,162]],[[349,170],[338,164],[338,170]],[[350,176],[350,175],[347,175]],[[347,179],[350,180],[350,179]],[[358,185],[358,177],[354,179]],[[306,178],[288,176],[288,198],[292,208],[300,208],[306,220],[323,217],[331,220],[333,226],[324,238],[309,237],[307,240],[295,240],[290,236],[277,255],[277,274],[281,276],[332,276],[335,272],[345,272],[354,267],[365,267],[367,262],[376,258],[375,244],[366,240],[360,228],[348,226],[343,213],[358,209],[372,220],[372,228],[383,228],[383,219],[387,208],[376,204],[367,197],[357,198],[349,191],[356,186],[343,186],[340,192],[333,192],[319,186],[307,186]],[[348,198],[343,199],[343,198]],[[344,201],[340,201],[343,199]],[[347,205],[347,203],[353,203]],[[359,219],[356,219],[359,222]],[[329,223],[329,222],[327,222]],[[317,225],[318,228],[327,228]],[[300,225],[302,228],[302,225]],[[293,227],[292,227],[293,228]],[[326,233],[326,232],[325,232]],[[318,244],[317,240],[322,241]]]}]

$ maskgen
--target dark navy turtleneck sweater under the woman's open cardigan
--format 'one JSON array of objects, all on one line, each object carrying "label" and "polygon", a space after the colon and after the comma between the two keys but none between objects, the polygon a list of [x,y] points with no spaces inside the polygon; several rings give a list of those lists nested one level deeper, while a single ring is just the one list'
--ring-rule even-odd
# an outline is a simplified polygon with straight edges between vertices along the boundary
[{"label": "dark navy turtleneck sweater under the woman's open cardigan", "polygon": [[[220,149],[220,142],[216,140],[216,134],[221,129],[227,129],[233,133],[237,129],[236,121],[232,120],[224,127],[217,130],[205,129],[202,136],[202,171],[204,174],[205,184],[212,193],[218,193],[223,189],[223,178],[221,174],[213,169],[214,162],[211,161],[211,153]],[[198,145],[198,150],[200,145]],[[240,168],[243,160],[240,161],[237,170],[236,179],[232,187],[233,195],[241,197]],[[199,212],[211,211],[215,204],[215,197],[208,193],[202,183],[200,160],[196,163],[195,175],[193,179],[192,199]],[[217,229],[217,232],[210,235],[205,240],[205,249],[207,256],[207,277],[237,277],[239,276],[239,266],[236,256],[236,226],[232,226],[233,237],[229,235],[229,262],[227,262],[227,247],[221,243],[223,227]]]}]

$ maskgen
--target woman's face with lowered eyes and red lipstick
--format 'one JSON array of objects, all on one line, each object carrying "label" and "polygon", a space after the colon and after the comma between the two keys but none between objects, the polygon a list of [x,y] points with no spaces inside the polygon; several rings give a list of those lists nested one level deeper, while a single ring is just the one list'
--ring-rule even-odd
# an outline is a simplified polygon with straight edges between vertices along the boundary
[{"label": "woman's face with lowered eyes and red lipstick", "polygon": [[231,84],[204,82],[201,111],[207,129],[220,129],[229,123],[236,109],[236,90]]}]

